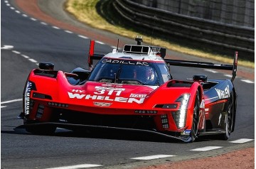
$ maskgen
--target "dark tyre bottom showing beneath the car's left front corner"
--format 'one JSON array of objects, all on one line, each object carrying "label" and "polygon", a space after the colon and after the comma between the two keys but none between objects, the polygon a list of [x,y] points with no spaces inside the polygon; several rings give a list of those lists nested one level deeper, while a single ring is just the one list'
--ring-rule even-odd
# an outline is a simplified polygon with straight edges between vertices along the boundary
[{"label": "dark tyre bottom showing beneath the car's left front corner", "polygon": [[55,133],[56,126],[26,126],[25,129],[28,133],[36,135],[52,135]]}]

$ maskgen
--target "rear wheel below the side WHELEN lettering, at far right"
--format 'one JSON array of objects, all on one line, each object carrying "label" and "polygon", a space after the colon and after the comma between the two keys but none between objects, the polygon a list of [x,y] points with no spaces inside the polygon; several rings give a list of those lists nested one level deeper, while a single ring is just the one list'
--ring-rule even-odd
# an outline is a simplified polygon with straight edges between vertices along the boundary
[{"label": "rear wheel below the side WHELEN lettering, at far right", "polygon": [[225,133],[222,133],[220,134],[220,139],[222,140],[228,140],[229,136],[230,136],[230,133],[233,129],[233,116],[234,116],[234,97],[231,96],[230,97],[230,102],[229,102],[229,105],[228,105],[228,113],[227,113],[227,120],[225,121]]}]

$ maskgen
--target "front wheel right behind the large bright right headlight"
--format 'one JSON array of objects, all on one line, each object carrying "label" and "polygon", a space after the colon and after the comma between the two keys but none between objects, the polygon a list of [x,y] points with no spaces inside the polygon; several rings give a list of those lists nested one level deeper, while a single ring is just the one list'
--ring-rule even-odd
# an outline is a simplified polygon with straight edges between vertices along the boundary
[{"label": "front wheel right behind the large bright right headlight", "polygon": [[193,124],[191,129],[191,142],[195,141],[198,135],[199,122],[199,107],[200,107],[199,92],[196,92],[195,104],[193,107]]}]

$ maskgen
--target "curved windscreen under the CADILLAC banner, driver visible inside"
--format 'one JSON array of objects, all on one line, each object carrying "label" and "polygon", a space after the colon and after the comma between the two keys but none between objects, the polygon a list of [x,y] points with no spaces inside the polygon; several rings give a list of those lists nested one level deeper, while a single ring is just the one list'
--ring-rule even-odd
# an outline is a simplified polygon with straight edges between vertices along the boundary
[{"label": "curved windscreen under the CADILLAC banner, driver visible inside", "polygon": [[159,85],[159,78],[153,63],[135,60],[102,59],[92,70],[89,80],[122,84]]}]

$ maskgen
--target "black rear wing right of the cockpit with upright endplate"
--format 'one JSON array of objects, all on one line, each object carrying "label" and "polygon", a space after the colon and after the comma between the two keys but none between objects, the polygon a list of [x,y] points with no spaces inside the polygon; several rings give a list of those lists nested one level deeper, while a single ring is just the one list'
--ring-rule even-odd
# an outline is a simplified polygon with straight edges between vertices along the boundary
[{"label": "black rear wing right of the cockpit with upright endplate", "polygon": [[215,69],[215,70],[232,70],[231,81],[235,80],[236,72],[238,70],[238,52],[235,52],[233,65],[226,64],[215,64],[212,62],[196,62],[196,61],[186,61],[186,60],[171,60],[164,59],[166,63],[174,66],[183,66],[183,67],[198,67],[206,69]]}]

